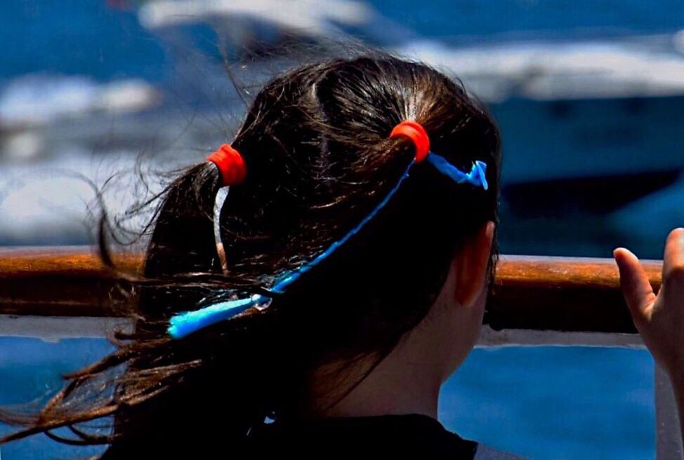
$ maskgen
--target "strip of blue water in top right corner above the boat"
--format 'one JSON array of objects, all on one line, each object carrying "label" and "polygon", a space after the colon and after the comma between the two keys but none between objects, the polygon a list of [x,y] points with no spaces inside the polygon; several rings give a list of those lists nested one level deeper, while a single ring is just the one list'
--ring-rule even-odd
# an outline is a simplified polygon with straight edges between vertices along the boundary
[{"label": "strip of blue water in top right corner above the boat", "polygon": [[436,0],[420,7],[411,0],[369,3],[423,36],[457,41],[654,34],[684,25],[684,4],[678,0]]}]

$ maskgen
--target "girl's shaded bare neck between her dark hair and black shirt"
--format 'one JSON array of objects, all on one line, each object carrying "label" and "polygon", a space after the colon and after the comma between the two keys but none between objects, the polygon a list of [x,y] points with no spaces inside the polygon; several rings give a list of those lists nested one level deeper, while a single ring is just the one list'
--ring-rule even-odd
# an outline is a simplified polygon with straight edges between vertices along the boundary
[{"label": "girl's shaded bare neck between her dark hair and black shirt", "polygon": [[[422,414],[437,419],[442,383],[473,349],[485,311],[485,291],[477,304],[456,304],[453,278],[449,272],[426,317],[376,367],[373,357],[350,368],[332,363],[315,370],[308,412],[316,417]],[[337,401],[340,392],[357,381],[360,384]]]}]

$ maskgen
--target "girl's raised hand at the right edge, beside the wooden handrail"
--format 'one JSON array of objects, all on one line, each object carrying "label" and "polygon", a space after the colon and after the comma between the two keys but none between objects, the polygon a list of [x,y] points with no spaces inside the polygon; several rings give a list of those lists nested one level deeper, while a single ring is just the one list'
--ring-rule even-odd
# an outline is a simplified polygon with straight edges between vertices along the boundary
[{"label": "girl's raised hand at the right edge, beside the wooden handrail", "polygon": [[684,382],[684,229],[667,237],[662,287],[655,295],[636,255],[614,250],[620,286],[641,338],[671,379]]}]

